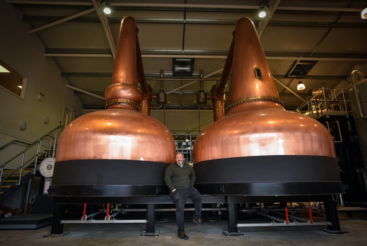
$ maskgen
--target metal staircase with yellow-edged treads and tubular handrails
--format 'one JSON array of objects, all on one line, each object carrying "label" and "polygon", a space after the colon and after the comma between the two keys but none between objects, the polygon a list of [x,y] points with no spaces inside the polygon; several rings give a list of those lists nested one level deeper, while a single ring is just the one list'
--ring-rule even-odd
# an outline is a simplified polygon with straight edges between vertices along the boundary
[{"label": "metal staircase with yellow-edged treads and tubular handrails", "polygon": [[26,213],[32,177],[39,173],[38,168],[41,160],[49,156],[55,156],[58,137],[62,129],[60,125],[33,143],[13,140],[0,147],[0,151],[4,151],[11,144],[21,143],[27,145],[23,151],[0,166],[0,204],[23,187],[24,198],[20,205],[22,207],[24,205],[24,212]]}]

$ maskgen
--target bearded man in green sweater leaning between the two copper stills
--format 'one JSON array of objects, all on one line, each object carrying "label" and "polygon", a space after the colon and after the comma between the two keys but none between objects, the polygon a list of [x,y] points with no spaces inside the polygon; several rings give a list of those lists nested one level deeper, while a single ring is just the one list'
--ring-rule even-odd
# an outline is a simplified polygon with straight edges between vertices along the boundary
[{"label": "bearded man in green sweater leaning between the two copper stills", "polygon": [[195,172],[188,163],[183,162],[182,152],[177,152],[176,162],[167,167],[164,181],[176,205],[177,236],[181,239],[189,239],[183,225],[186,197],[194,200],[195,213],[192,220],[199,226],[205,226],[205,224],[201,220],[201,194],[194,188]]}]

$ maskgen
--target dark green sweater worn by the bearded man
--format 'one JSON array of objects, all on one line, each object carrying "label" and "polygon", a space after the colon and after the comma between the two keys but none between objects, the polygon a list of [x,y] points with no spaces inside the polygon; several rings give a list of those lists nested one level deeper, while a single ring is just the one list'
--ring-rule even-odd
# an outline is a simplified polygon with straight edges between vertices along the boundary
[{"label": "dark green sweater worn by the bearded man", "polygon": [[195,172],[187,163],[183,163],[182,167],[177,163],[172,163],[164,173],[164,181],[170,191],[187,189],[190,185],[194,185],[195,179]]}]

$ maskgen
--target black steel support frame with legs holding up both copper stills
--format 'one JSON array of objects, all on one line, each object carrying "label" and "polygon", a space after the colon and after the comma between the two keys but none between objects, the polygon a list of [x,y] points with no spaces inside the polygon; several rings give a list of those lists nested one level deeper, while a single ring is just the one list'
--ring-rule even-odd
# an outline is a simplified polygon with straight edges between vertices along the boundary
[{"label": "black steel support frame with legs holding up both copper stills", "polygon": [[[65,217],[65,205],[70,204],[146,204],[146,231],[141,235],[159,235],[155,231],[155,204],[174,204],[170,196],[155,197],[54,197],[54,215],[52,220],[51,233],[45,236],[62,235]],[[287,203],[287,202],[309,202],[323,201],[325,214],[331,225],[323,230],[333,234],[345,233],[340,230],[336,203],[332,195],[309,195],[309,196],[209,196],[203,195],[203,203],[227,203],[228,204],[228,231],[223,231],[225,235],[244,235],[237,227],[236,203]],[[190,198],[186,199],[186,204],[193,203]]]}]

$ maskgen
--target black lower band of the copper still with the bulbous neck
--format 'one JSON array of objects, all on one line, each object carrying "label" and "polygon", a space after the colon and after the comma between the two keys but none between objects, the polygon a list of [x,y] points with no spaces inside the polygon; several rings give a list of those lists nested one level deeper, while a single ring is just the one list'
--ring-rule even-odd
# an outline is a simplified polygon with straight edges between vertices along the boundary
[{"label": "black lower band of the copper still with the bulbous neck", "polygon": [[65,160],[55,162],[51,196],[131,197],[168,195],[169,164],[143,160]]}]

